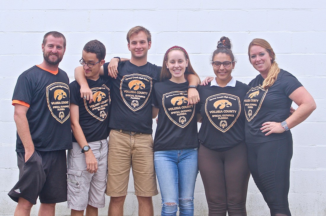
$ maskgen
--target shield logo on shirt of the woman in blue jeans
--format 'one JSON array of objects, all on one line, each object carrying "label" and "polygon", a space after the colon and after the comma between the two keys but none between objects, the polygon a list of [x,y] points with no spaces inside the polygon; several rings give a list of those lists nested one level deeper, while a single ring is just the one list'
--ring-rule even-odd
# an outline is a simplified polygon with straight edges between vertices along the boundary
[{"label": "shield logo on shirt of the woman in blue jeans", "polygon": [[162,103],[166,115],[179,127],[184,128],[195,115],[195,105],[188,104],[186,91],[171,91],[163,94]]}]

